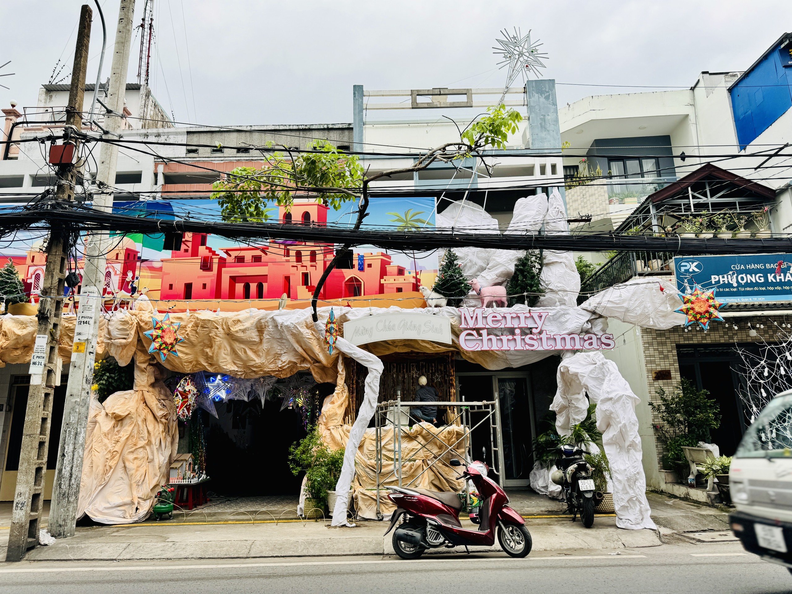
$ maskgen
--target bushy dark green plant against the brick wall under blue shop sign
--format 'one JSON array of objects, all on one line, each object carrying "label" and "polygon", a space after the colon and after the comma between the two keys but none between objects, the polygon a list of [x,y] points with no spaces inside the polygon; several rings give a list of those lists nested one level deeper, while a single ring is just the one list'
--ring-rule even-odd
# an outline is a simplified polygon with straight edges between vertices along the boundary
[{"label": "bushy dark green plant against the brick wall under blue shop sign", "polygon": [[689,379],[677,383],[671,394],[663,388],[656,394],[660,402],[649,402],[649,406],[663,421],[663,425],[654,425],[665,450],[663,463],[683,476],[688,464],[682,448],[710,442],[710,431],[721,426],[720,406],[709,398],[707,390],[699,390]]}]

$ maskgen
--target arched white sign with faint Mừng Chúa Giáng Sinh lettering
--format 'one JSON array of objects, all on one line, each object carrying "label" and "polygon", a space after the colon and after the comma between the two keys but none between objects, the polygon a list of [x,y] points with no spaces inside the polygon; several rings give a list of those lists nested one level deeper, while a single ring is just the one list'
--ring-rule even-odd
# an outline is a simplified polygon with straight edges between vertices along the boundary
[{"label": "arched white sign with faint M\u1eebng Ch\u00faa Gi\u00e1ng Sinh lettering", "polygon": [[399,340],[434,341],[451,345],[451,319],[406,312],[370,315],[344,322],[344,337],[352,345]]}]

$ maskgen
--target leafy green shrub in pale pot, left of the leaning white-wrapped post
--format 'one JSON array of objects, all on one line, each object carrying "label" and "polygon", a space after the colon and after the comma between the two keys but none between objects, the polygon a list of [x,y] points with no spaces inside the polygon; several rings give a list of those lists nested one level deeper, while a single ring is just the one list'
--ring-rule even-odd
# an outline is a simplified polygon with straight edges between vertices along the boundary
[{"label": "leafy green shrub in pale pot, left of the leaning white-wrapped post", "polygon": [[305,471],[304,514],[307,518],[315,520],[324,516],[329,489],[338,482],[343,464],[344,450],[327,447],[316,427],[310,428],[307,436],[289,447],[291,472]]}]

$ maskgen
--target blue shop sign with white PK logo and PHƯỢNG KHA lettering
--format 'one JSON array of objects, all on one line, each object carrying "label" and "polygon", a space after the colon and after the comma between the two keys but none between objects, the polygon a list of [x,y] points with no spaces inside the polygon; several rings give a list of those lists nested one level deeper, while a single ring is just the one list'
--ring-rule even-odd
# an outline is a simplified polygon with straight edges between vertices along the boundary
[{"label": "blue shop sign with white PK logo and PH\u01af\u1ee2NG KHA lettering", "polygon": [[675,257],[674,270],[680,293],[698,284],[724,303],[792,301],[790,253]]}]

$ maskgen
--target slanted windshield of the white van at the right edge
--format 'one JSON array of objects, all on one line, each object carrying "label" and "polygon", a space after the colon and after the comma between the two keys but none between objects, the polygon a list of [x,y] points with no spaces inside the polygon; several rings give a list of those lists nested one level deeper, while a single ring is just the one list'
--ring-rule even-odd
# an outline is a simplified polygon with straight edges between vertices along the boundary
[{"label": "slanted windshield of the white van at the right edge", "polygon": [[792,457],[792,395],[771,400],[748,427],[736,458]]}]

